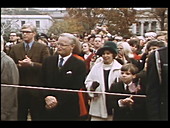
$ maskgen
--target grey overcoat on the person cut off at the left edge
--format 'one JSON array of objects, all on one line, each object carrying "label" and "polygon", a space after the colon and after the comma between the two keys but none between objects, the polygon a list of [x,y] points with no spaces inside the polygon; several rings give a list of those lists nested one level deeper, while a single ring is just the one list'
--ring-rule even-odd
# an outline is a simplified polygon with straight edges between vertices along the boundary
[{"label": "grey overcoat on the person cut off at the left edge", "polygon": [[[12,58],[1,52],[1,84],[18,84],[19,72]],[[17,121],[17,88],[1,87],[1,120]]]}]

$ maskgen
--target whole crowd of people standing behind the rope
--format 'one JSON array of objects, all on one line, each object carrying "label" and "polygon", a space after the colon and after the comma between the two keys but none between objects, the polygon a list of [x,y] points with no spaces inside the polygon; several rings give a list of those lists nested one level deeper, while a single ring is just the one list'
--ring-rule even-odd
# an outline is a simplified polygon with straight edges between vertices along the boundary
[{"label": "whole crowd of people standing behind the rope", "polygon": [[1,85],[25,87],[1,86],[2,121],[168,120],[167,35],[111,35],[104,25],[47,36],[26,23],[1,47]]}]

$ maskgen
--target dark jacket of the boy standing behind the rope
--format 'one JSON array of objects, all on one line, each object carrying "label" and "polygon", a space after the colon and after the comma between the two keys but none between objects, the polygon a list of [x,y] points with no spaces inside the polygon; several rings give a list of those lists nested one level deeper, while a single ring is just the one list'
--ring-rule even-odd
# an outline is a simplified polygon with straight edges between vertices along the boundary
[{"label": "dark jacket of the boy standing behind the rope", "polygon": [[[132,94],[129,91],[124,89],[123,82],[118,82],[112,84],[110,88],[110,92],[113,93],[125,93],[125,94]],[[137,94],[144,94],[144,90],[141,90]],[[134,105],[131,107],[119,107],[118,100],[127,98],[128,96],[110,96],[110,102],[113,104],[114,109],[114,120],[127,120],[127,121],[134,121],[134,120],[146,120],[146,110],[145,110],[145,98],[137,98],[134,97]]]}]

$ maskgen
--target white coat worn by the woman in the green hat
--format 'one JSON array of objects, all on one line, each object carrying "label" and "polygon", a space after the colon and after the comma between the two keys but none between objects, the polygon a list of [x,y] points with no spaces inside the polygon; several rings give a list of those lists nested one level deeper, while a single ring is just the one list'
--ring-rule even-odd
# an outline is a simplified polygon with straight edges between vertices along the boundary
[{"label": "white coat worn by the woman in the green hat", "polygon": [[[110,88],[111,84],[115,81],[115,78],[119,78],[121,74],[120,68],[122,65],[116,60],[113,61],[112,68],[108,76],[108,86]],[[85,85],[87,90],[90,90],[90,87],[93,81],[97,81],[100,85],[96,88],[96,92],[105,92],[104,84],[104,72],[103,72],[103,61],[96,63],[91,71],[89,72]],[[89,96],[92,98],[90,103],[89,114],[92,116],[97,116],[101,118],[107,118],[107,109],[106,109],[106,97],[105,94],[98,94],[97,97],[94,97],[94,93],[89,93]]]}]

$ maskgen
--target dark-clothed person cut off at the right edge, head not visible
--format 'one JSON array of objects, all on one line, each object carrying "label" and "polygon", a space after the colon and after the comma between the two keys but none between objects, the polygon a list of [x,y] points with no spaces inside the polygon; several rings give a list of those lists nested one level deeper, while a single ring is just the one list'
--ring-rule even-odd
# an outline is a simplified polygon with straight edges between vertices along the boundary
[{"label": "dark-clothed person cut off at the right edge, head not visible", "polygon": [[168,121],[168,47],[152,52],[147,65],[148,118]]}]

